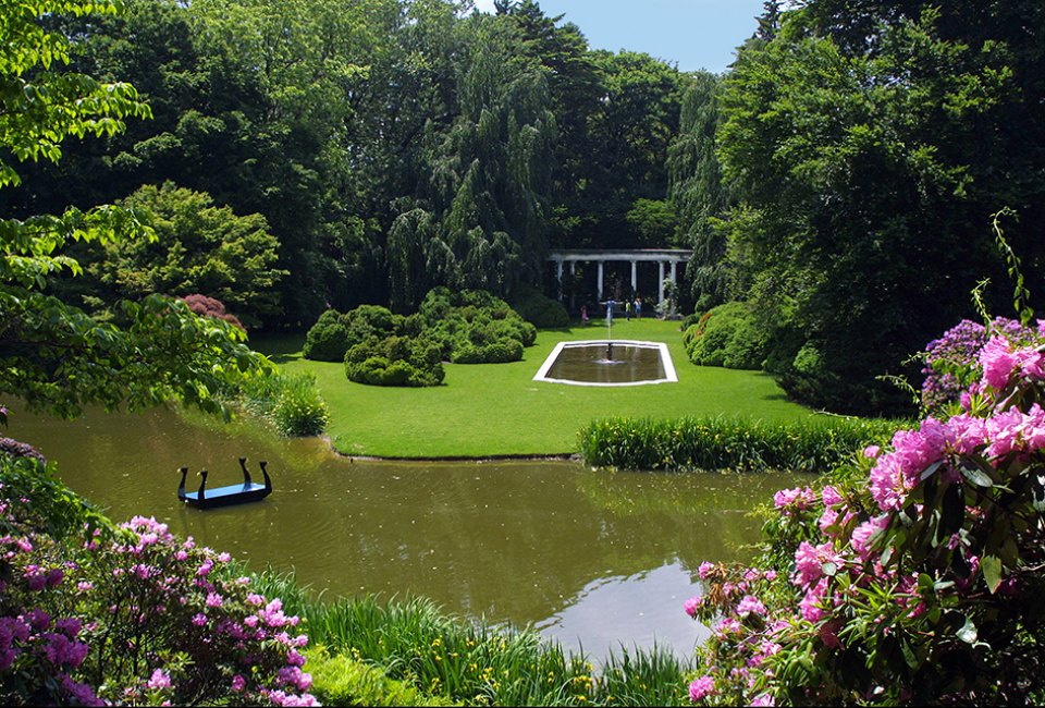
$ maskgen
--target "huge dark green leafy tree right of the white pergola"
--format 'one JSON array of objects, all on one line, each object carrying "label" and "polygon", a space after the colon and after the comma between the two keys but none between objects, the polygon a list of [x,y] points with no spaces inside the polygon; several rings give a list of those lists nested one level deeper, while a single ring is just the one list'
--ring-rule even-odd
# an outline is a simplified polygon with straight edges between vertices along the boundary
[{"label": "huge dark green leafy tree right of the white pergola", "polygon": [[792,394],[899,403],[875,377],[972,314],[979,279],[1005,278],[1001,207],[1023,216],[1017,252],[1042,263],[1028,225],[1045,141],[1028,111],[1045,97],[1043,33],[1033,2],[810,0],[740,52],[718,138],[740,200],[729,254]]}]

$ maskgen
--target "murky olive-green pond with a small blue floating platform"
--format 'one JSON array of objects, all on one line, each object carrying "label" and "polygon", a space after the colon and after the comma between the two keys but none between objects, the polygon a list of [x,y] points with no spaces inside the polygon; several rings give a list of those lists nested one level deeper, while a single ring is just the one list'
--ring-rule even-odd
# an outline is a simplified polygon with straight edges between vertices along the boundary
[{"label": "murky olive-green pond with a small blue floating platform", "polygon": [[[63,480],[115,521],[155,516],[246,560],[295,571],[324,597],[421,595],[451,614],[532,625],[595,659],[626,647],[689,656],[708,630],[683,602],[705,560],[742,560],[747,515],[788,475],[594,472],[568,461],[362,462],[325,441],[272,439],[249,425],[186,420],[165,410],[28,414],[7,435],[35,444]],[[200,511],[180,475],[242,480],[268,461],[275,490],[254,504]]]}]

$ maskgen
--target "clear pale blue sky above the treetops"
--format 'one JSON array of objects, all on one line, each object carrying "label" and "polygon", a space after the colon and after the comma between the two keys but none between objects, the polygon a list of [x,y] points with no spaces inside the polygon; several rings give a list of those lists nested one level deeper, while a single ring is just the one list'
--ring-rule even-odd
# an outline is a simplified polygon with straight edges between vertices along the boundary
[{"label": "clear pale blue sky above the treetops", "polygon": [[[642,51],[679,71],[721,73],[754,34],[763,0],[538,0],[546,16],[565,15],[592,49]],[[475,0],[493,12],[493,0]]]}]

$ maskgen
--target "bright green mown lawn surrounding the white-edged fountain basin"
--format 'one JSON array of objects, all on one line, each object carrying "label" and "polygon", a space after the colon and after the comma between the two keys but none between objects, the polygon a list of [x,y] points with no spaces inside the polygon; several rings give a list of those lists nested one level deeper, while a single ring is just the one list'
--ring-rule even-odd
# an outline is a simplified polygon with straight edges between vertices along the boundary
[{"label": "bright green mown lawn surrounding the white-edged fountain basin", "polygon": [[787,401],[770,376],[690,364],[675,321],[615,320],[613,338],[666,342],[678,383],[597,388],[532,380],[557,342],[604,339],[602,320],[595,322],[569,331],[542,330],[521,362],[444,365],[445,383],[427,389],[353,383],[343,365],[303,358],[303,338],[259,340],[253,345],[287,371],[315,374],[330,405],[328,432],[333,445],[351,455],[569,454],[576,451],[581,426],[606,416],[741,415],[778,422],[813,415]]}]

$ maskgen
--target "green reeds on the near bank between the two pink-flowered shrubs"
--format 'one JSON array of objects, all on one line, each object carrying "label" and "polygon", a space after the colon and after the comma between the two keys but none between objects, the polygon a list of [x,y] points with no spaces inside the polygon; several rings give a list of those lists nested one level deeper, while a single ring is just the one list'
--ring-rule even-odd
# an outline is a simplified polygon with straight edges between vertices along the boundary
[{"label": "green reeds on the near bank between the two pink-flowered shrubs", "polygon": [[475,706],[687,703],[692,662],[660,648],[622,649],[595,668],[538,632],[468,622],[444,614],[428,599],[366,596],[328,602],[311,599],[293,576],[262,574],[256,583],[257,591],[281,597],[286,611],[303,618],[309,643],[323,646],[323,662],[362,662],[381,671],[376,678],[352,669],[360,683],[336,671],[317,671],[312,691],[318,696],[353,691],[361,696],[380,679],[395,691],[408,684],[437,703]]}]

